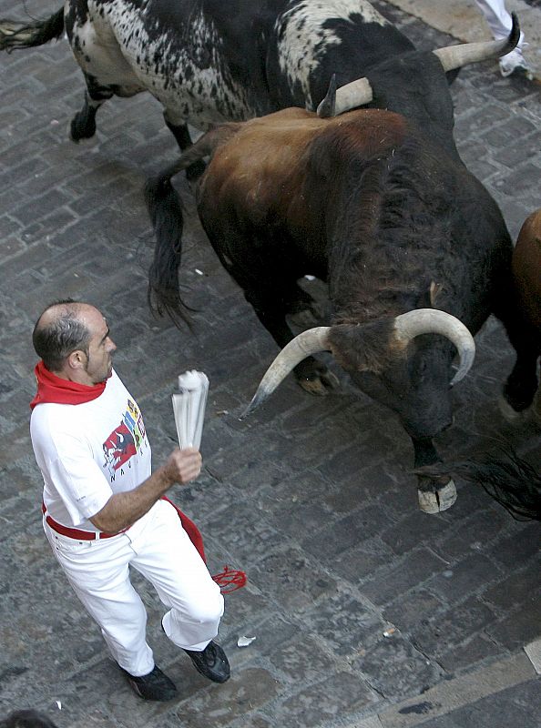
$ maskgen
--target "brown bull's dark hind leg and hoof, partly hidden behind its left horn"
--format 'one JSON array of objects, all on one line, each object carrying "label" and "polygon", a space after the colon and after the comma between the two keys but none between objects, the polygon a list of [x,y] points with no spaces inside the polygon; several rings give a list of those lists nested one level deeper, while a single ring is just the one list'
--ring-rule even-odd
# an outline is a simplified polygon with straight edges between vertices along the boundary
[{"label": "brown bull's dark hind leg and hoof, partly hidden behind its left horn", "polygon": [[[286,315],[290,312],[289,304],[284,299],[277,300],[276,294],[274,296],[264,297],[260,291],[253,293],[252,291],[248,292],[245,290],[244,295],[247,301],[253,306],[258,319],[260,319],[265,329],[269,331],[278,346],[283,349],[293,339],[291,329],[286,323]],[[297,293],[291,298],[295,303],[299,299]],[[339,384],[337,377],[321,361],[313,357],[302,359],[293,369],[293,374],[302,389],[305,389],[311,394],[328,394],[329,389]]]}]

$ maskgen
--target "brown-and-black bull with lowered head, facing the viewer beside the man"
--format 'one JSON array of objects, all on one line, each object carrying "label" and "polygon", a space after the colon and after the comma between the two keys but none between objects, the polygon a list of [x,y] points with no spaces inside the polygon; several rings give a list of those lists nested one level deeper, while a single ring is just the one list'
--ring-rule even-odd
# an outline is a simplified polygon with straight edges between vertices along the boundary
[{"label": "brown-and-black bull with lowered head, facing the viewer beside the man", "polygon": [[[493,52],[508,52],[516,31]],[[251,409],[291,370],[304,389],[325,393],[332,375],[311,355],[330,350],[362,391],[398,414],[415,467],[439,460],[433,439],[451,424],[451,386],[471,366],[472,334],[489,314],[504,322],[517,354],[507,402],[526,409],[537,384],[536,350],[508,295],[504,219],[454,146],[444,71],[456,56],[442,50],[389,59],[332,89],[320,114],[340,116],[287,109],[217,126],[147,187],[158,238],[150,296],[181,316],[182,214],[170,180],[211,157],[197,190],[201,223],[283,348]],[[374,98],[389,109],[347,111]],[[287,315],[311,305],[298,286],[306,274],[327,281],[332,325],[293,338]],[[418,493],[427,512],[456,497],[451,480],[434,478],[421,478]]]}]

